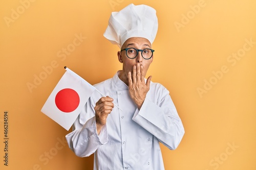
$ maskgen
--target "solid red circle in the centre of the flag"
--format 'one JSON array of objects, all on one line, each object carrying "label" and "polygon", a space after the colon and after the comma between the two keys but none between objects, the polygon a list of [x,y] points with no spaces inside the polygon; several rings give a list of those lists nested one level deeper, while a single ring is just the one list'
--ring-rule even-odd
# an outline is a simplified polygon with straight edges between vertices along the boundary
[{"label": "solid red circle in the centre of the flag", "polygon": [[55,104],[62,112],[72,112],[76,110],[80,102],[78,93],[70,88],[60,90],[55,96]]}]

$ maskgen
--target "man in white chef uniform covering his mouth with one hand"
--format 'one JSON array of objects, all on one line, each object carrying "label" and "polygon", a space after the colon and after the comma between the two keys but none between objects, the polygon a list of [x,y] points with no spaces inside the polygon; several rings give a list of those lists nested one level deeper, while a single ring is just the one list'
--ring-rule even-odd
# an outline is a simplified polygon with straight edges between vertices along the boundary
[{"label": "man in white chef uniform covering his mouth with one hand", "polygon": [[[133,4],[113,12],[104,36],[121,49],[122,70],[95,87],[66,136],[77,156],[94,154],[94,169],[164,169],[159,142],[174,150],[184,128],[168,90],[145,80],[153,61],[156,11]],[[118,107],[114,107],[114,103]]]}]

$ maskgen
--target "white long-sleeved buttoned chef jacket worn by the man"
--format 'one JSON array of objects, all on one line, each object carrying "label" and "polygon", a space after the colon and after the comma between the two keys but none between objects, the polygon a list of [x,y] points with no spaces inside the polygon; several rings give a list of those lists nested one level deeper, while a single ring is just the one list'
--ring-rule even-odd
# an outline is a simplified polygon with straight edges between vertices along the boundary
[{"label": "white long-sleeved buttoned chef jacket worn by the man", "polygon": [[140,110],[129,95],[128,86],[118,77],[94,85],[114,99],[106,125],[97,134],[95,91],[66,135],[69,147],[79,157],[94,154],[94,170],[163,170],[159,141],[170,150],[178,147],[184,128],[169,91],[159,83],[150,84]]}]

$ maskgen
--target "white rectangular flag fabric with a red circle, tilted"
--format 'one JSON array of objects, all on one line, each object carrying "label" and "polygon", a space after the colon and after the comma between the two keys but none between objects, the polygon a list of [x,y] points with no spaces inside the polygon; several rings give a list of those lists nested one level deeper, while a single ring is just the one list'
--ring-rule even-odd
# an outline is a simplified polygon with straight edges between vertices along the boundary
[{"label": "white rectangular flag fabric with a red circle, tilted", "polygon": [[41,112],[69,130],[94,90],[94,86],[66,68]]}]

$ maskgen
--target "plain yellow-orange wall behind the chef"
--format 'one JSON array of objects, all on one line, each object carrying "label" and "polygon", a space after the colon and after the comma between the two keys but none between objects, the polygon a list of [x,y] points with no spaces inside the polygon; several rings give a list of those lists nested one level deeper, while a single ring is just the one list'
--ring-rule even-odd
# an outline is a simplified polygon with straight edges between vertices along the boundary
[{"label": "plain yellow-orange wall behind the chef", "polygon": [[[256,169],[253,0],[1,1],[1,169],[93,168],[93,156],[76,157],[60,142],[70,131],[40,110],[65,72],[63,66],[91,84],[122,68],[119,48],[103,33],[111,12],[131,3],[157,11],[159,30],[147,76],[170,91],[185,128],[177,150],[161,145],[166,170]],[[76,36],[83,39],[74,48]],[[67,47],[70,54],[64,58]],[[231,58],[238,54],[242,57]],[[44,78],[37,85],[36,76]],[[9,114],[8,166],[3,161],[4,111]]]}]

